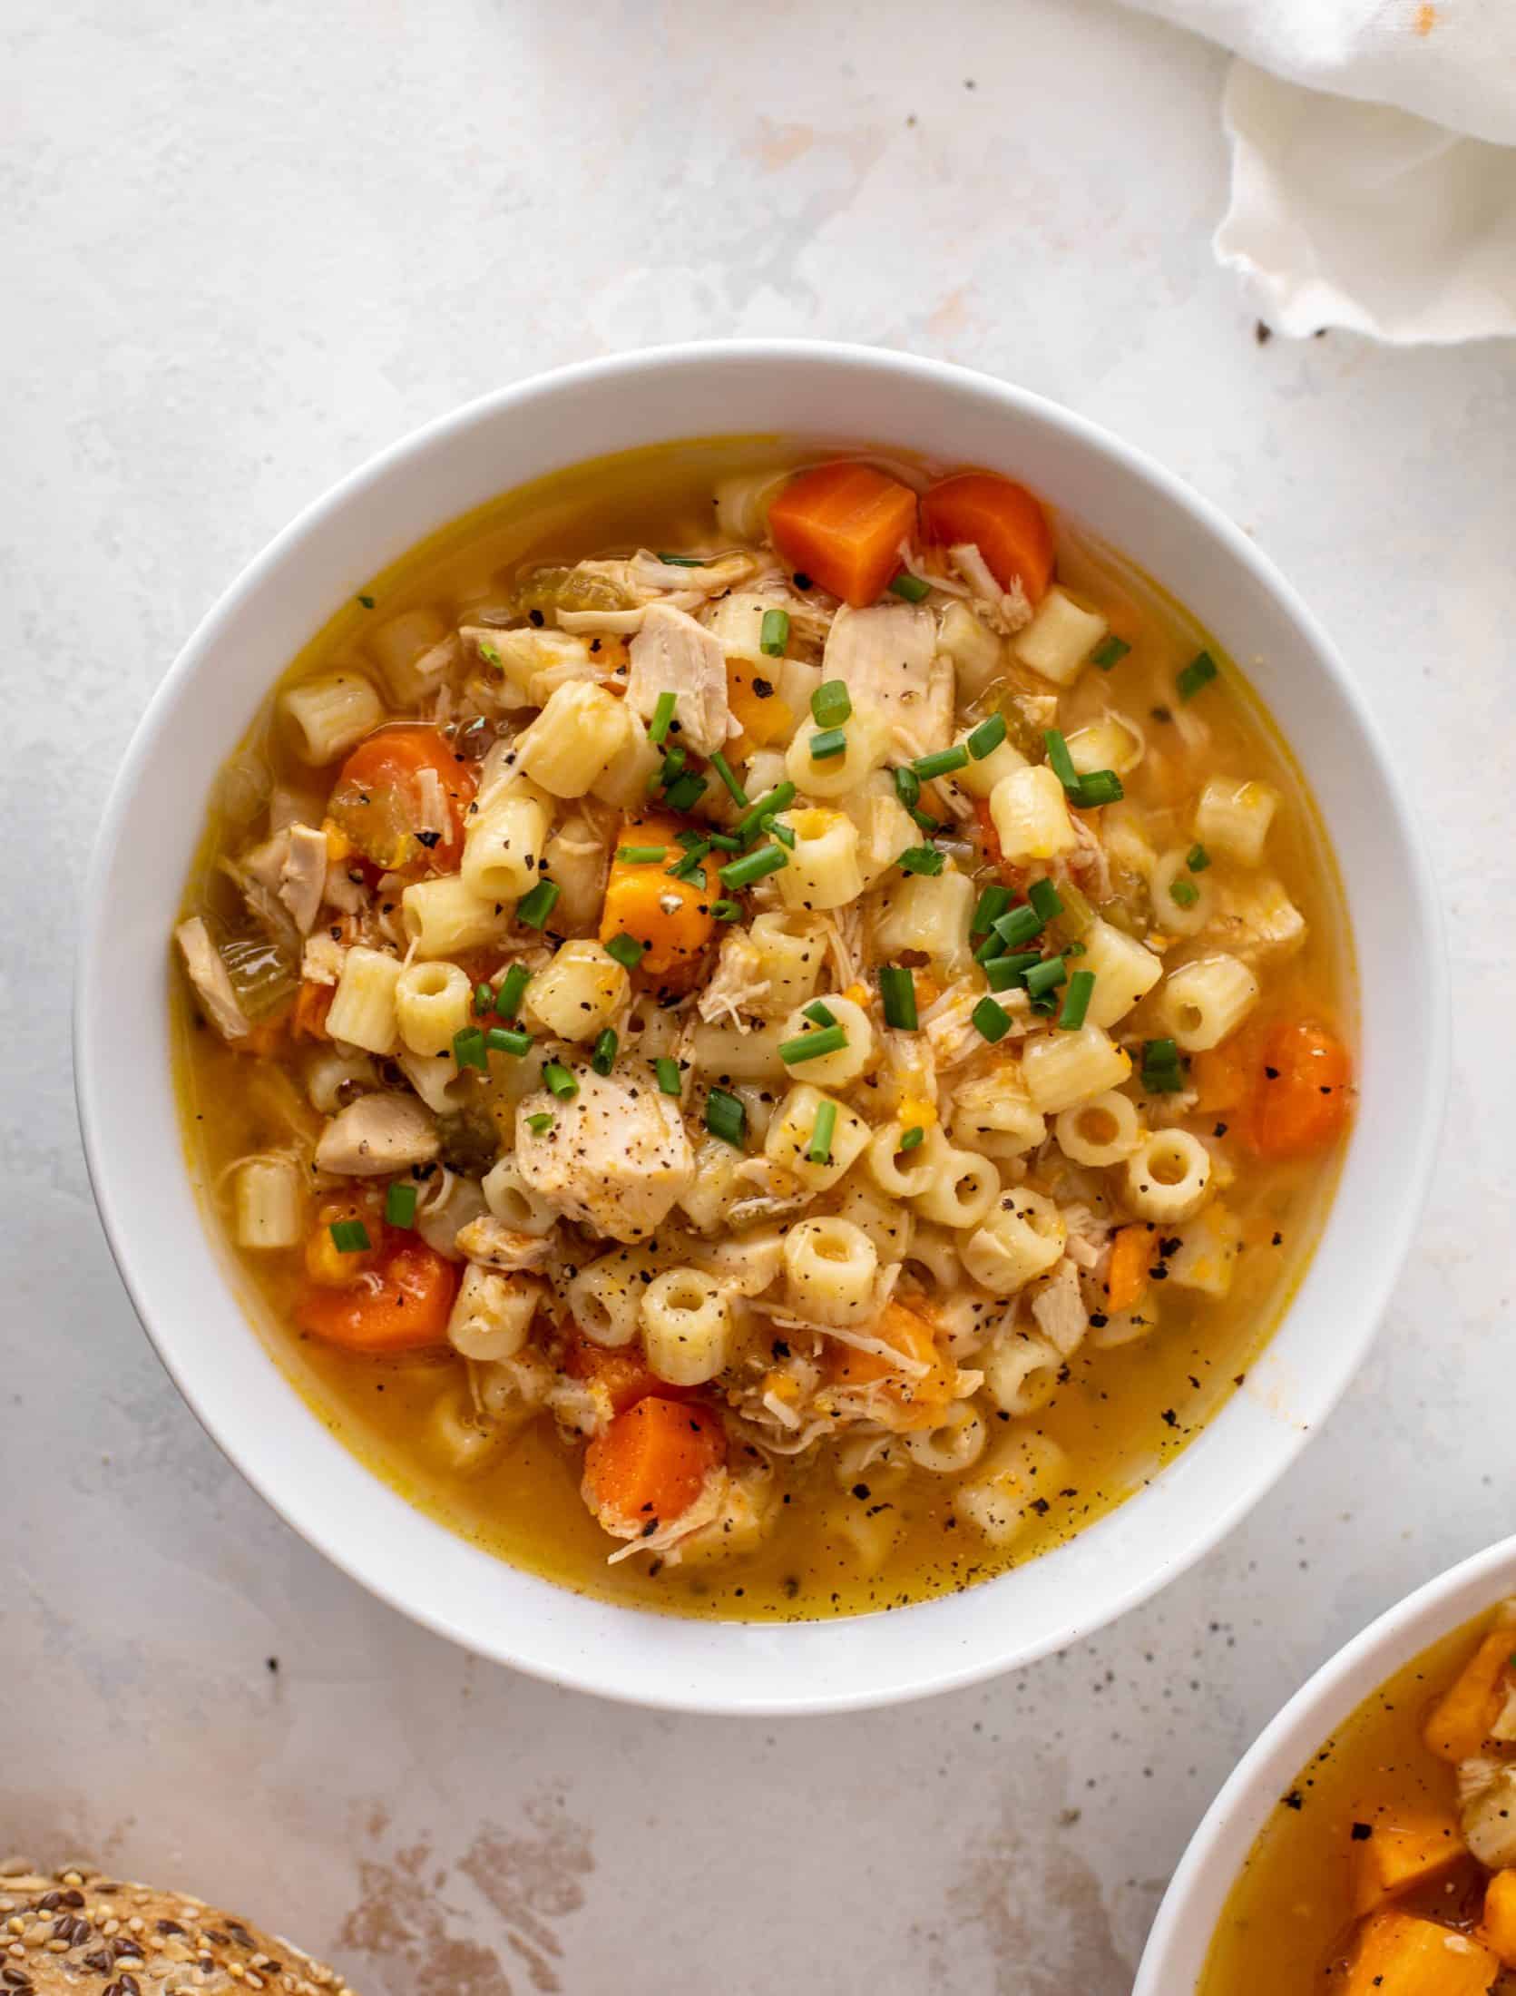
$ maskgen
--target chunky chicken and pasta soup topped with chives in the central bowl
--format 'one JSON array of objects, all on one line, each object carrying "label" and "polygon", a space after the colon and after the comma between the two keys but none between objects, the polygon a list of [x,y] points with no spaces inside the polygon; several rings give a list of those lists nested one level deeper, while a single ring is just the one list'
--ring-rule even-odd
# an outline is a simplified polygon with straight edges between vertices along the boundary
[{"label": "chunky chicken and pasta soup topped with chives in the central bowl", "polygon": [[963,1587],[1243,1383],[1350,1114],[1247,683],[1021,485],[724,439],[417,549],[221,772],[191,1170],[453,1529],[724,1617]]}]

